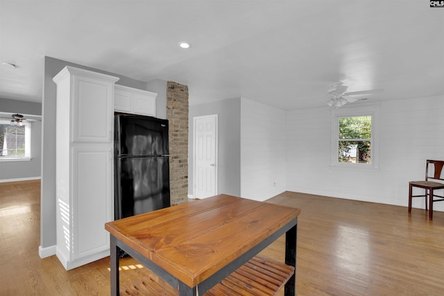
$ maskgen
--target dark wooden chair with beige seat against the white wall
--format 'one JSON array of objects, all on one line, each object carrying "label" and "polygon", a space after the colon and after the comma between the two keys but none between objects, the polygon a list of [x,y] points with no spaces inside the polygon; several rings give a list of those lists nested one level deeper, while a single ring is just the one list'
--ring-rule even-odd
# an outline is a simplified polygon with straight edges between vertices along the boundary
[{"label": "dark wooden chair with beige seat against the white wall", "polygon": [[[429,164],[433,164],[433,173],[429,173]],[[425,181],[411,181],[409,182],[409,213],[411,212],[411,198],[424,197],[425,198],[425,210],[427,211],[427,196],[429,197],[429,219],[433,218],[433,203],[441,202],[444,200],[443,195],[436,195],[434,190],[444,189],[444,184],[440,182],[429,181],[441,180],[441,171],[443,171],[444,161],[443,160],[429,160],[427,159],[427,164],[425,165]],[[430,168],[432,171],[432,168]],[[432,177],[433,176],[433,177]],[[413,187],[422,188],[425,190],[425,194],[422,195],[412,195]],[[438,199],[434,199],[438,198]]]}]

